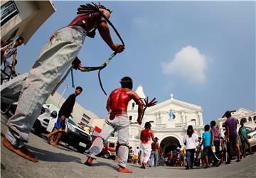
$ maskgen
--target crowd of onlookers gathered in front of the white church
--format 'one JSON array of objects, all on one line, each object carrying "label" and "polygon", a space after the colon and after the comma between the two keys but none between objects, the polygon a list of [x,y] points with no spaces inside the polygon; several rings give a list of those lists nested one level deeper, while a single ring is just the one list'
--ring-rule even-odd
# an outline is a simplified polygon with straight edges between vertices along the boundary
[{"label": "crowd of onlookers gathered in front of the white church", "polygon": [[[221,137],[218,126],[215,121],[211,121],[210,125],[204,126],[204,133],[201,136],[193,130],[193,126],[188,126],[186,134],[183,137],[184,148],[181,150],[181,145],[170,152],[164,152],[157,142],[159,139],[152,138],[151,150],[149,159],[144,162],[145,145],[142,144],[136,150],[129,148],[128,162],[133,164],[145,165],[149,167],[170,166],[170,167],[186,167],[192,169],[195,167],[208,168],[218,167],[221,163],[230,164],[233,157],[236,157],[236,162],[240,162],[243,157],[246,157],[245,144],[248,146],[250,154],[253,154],[250,143],[248,142],[245,121],[240,121],[240,128],[237,131],[237,120],[231,117],[230,111],[225,113],[227,120],[225,121],[225,137]],[[145,124],[145,129],[150,129],[150,123]],[[142,131],[142,135],[144,135]],[[143,142],[142,142],[143,143]],[[240,144],[241,143],[241,144]],[[241,149],[240,149],[241,145]],[[234,150],[235,153],[234,154]],[[136,152],[136,154],[135,154]],[[139,155],[137,153],[139,152]]]}]

